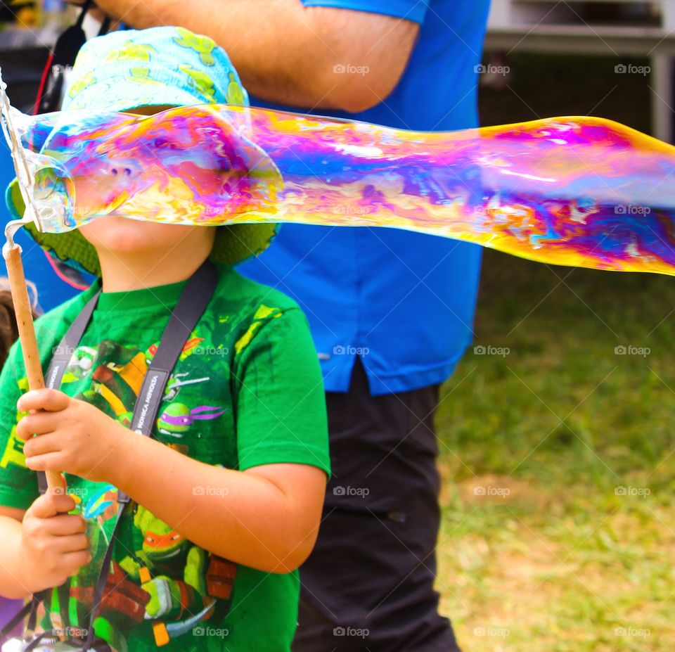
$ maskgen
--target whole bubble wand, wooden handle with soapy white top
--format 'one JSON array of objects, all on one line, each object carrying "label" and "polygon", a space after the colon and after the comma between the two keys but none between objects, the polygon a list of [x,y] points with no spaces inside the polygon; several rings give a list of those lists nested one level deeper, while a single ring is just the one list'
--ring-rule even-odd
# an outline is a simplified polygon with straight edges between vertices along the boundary
[{"label": "whole bubble wand, wooden handle with soapy white top", "polygon": [[[44,388],[44,376],[40,363],[40,354],[37,347],[37,338],[35,337],[35,327],[33,324],[33,314],[28,296],[28,287],[26,277],[23,271],[23,262],[21,261],[21,248],[15,243],[14,235],[18,229],[25,224],[34,223],[40,229],[40,222],[37,219],[37,210],[33,200],[35,179],[27,163],[25,152],[21,146],[20,136],[15,129],[12,121],[12,109],[9,98],[6,93],[7,84],[2,79],[2,70],[0,69],[0,114],[2,131],[7,144],[11,150],[14,170],[18,179],[21,195],[25,202],[26,210],[22,219],[14,219],[5,225],[6,243],[2,248],[2,255],[7,265],[7,274],[14,303],[14,312],[19,331],[19,340],[23,352],[23,362],[26,367],[28,386],[31,390]],[[40,229],[41,230],[41,229]],[[47,485],[51,490],[63,487],[63,480],[60,473],[56,471],[46,471]]]}]

